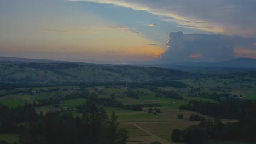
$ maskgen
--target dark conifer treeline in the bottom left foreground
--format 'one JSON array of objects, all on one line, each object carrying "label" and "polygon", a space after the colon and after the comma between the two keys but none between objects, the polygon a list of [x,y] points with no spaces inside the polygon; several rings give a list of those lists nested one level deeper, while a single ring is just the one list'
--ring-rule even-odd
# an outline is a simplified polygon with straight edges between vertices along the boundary
[{"label": "dark conifer treeline in the bottom left foreground", "polygon": [[16,109],[0,104],[0,133],[19,133],[20,144],[125,144],[127,130],[118,126],[115,113],[109,119],[95,104],[88,103],[81,117],[60,111],[38,115],[32,104]]}]

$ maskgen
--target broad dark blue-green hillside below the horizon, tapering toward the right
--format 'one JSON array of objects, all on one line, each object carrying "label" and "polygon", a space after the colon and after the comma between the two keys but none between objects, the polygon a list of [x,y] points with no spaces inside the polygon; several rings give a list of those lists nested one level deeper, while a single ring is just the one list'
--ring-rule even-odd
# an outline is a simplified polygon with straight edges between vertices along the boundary
[{"label": "broad dark blue-green hillside below the horizon, tapering toward the right", "polygon": [[142,82],[189,77],[194,75],[155,67],[0,62],[0,82],[3,83]]}]

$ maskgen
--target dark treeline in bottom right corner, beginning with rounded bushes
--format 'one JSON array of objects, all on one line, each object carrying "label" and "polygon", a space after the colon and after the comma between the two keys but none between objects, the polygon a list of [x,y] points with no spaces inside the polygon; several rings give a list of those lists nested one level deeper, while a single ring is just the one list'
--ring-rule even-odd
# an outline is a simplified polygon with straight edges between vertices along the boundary
[{"label": "dark treeline in bottom right corner, beginning with rounded bushes", "polygon": [[256,142],[255,120],[255,116],[232,123],[223,123],[219,118],[214,121],[203,119],[199,125],[188,127],[185,130],[174,129],[171,138],[173,142],[187,144],[206,144],[207,139]]}]

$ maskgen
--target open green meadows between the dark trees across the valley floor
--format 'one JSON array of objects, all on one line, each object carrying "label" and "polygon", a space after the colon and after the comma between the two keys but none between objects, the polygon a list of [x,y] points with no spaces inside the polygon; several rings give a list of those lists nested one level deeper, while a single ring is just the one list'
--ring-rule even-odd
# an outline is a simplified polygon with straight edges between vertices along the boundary
[{"label": "open green meadows between the dark trees across the valley floor", "polygon": [[[115,87],[105,87],[105,86],[97,86],[97,87],[88,87],[88,91],[90,93],[95,92],[98,94],[99,98],[110,98],[111,95],[117,94],[118,101],[121,101],[124,105],[139,105],[139,104],[159,104],[160,107],[156,107],[161,110],[160,113],[154,115],[153,113],[148,113],[148,107],[143,108],[142,111],[132,111],[132,110],[124,110],[118,107],[106,107],[104,109],[107,111],[108,115],[111,115],[112,112],[115,112],[118,116],[118,120],[120,122],[120,127],[126,127],[129,135],[129,144],[148,144],[154,141],[159,141],[161,143],[173,143],[171,141],[171,132],[174,129],[185,129],[191,125],[197,125],[199,122],[189,121],[189,117],[191,114],[196,113],[192,111],[180,111],[179,106],[187,104],[189,100],[202,100],[202,101],[211,101],[216,102],[209,98],[202,97],[188,97],[188,93],[193,88],[200,88],[201,92],[208,93],[225,93],[222,90],[225,90],[227,93],[243,95],[246,99],[256,99],[256,88],[255,88],[255,79],[253,81],[242,81],[241,79],[245,79],[245,77],[239,78],[237,80],[234,79],[216,79],[216,78],[207,78],[207,79],[183,79],[177,80],[179,82],[183,82],[188,84],[189,86],[186,88],[174,88],[174,87],[159,87],[158,89],[164,91],[175,91],[181,94],[184,99],[178,100],[167,97],[155,97],[155,92],[150,91],[145,88],[133,88],[132,90],[135,92],[144,92],[147,95],[142,95],[139,99],[135,99],[132,97],[127,97],[125,95],[125,91],[127,90],[122,86]],[[251,87],[247,87],[251,86]],[[56,89],[59,88],[59,91],[51,91],[51,92],[40,92],[35,93],[33,96],[28,94],[11,94],[0,97],[0,102],[4,105],[7,105],[10,108],[14,108],[18,105],[22,105],[25,101],[32,102],[34,100],[45,99],[55,97],[56,95],[63,94],[73,94],[73,93],[81,93],[78,86],[63,86],[63,87],[40,87],[33,88],[33,91],[41,91],[42,89]],[[22,88],[20,88],[22,89]],[[24,89],[24,88],[23,88]],[[68,89],[64,91],[63,89]],[[97,91],[97,89],[101,89],[102,92]],[[0,91],[1,93],[5,93],[4,90]],[[78,105],[83,105],[86,103],[85,98],[75,98],[70,100],[65,100],[63,103],[59,104],[60,107],[65,109],[73,108],[72,113],[77,115],[75,112],[75,107]],[[46,105],[42,107],[37,107],[36,111],[46,113],[48,111],[54,111],[54,104]],[[155,108],[155,107],[152,107]],[[178,119],[178,114],[183,114],[183,119]],[[198,113],[197,113],[198,114]],[[212,117],[204,116],[207,119],[213,119]],[[223,120],[224,122],[233,122],[234,120]],[[16,141],[16,134],[2,134],[0,135],[0,140],[6,140],[8,142]],[[210,140],[209,143],[230,143],[230,144],[240,144],[241,142],[227,142],[227,141],[217,141]]]}]

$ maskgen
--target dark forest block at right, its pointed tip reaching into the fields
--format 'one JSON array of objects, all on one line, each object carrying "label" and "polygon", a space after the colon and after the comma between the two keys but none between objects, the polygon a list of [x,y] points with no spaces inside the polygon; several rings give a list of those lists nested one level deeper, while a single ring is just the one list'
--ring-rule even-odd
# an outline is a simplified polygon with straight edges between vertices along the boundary
[{"label": "dark forest block at right, its pointed tip reaching into the fields", "polygon": [[[189,101],[180,109],[192,110],[217,117],[215,121],[202,119],[200,127],[211,139],[256,142],[256,101],[223,100],[219,103]],[[238,119],[238,122],[224,124],[220,118]]]}]

